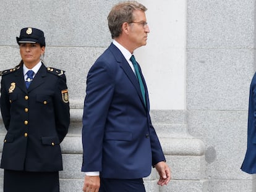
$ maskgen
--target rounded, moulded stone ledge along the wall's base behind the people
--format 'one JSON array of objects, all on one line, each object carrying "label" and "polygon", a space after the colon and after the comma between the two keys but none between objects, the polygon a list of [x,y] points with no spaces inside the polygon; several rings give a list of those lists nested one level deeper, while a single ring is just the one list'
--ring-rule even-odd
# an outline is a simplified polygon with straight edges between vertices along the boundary
[{"label": "rounded, moulded stone ledge along the wall's base behind the people", "polygon": [[[67,134],[66,138],[64,138],[64,141],[61,143],[62,152],[64,154],[82,154],[82,114],[83,109],[70,109],[71,122],[69,133]],[[0,121],[2,121],[2,119],[0,119]],[[1,125],[0,141],[3,141],[4,136],[6,135],[6,130],[4,129],[2,123]],[[186,131],[186,125],[161,125],[156,122],[155,127],[160,138],[164,154],[179,156],[202,156],[204,154],[205,146],[202,140],[190,136]],[[166,138],[166,135],[168,136],[168,138]],[[0,142],[0,151],[2,151],[2,145],[3,143]]]}]

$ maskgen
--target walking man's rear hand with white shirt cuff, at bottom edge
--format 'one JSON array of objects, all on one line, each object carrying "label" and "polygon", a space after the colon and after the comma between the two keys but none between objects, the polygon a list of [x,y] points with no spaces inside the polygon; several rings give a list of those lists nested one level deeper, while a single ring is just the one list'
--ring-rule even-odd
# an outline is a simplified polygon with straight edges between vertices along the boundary
[{"label": "walking man's rear hand with white shirt cuff, at bottom edge", "polygon": [[83,183],[83,192],[98,192],[100,189],[100,176],[87,176]]}]

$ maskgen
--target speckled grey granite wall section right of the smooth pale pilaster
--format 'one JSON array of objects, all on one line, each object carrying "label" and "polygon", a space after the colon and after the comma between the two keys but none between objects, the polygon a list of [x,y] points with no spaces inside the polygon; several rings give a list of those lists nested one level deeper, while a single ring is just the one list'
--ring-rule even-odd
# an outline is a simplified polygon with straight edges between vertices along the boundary
[{"label": "speckled grey granite wall section right of the smooth pale pilaster", "polygon": [[208,191],[255,191],[240,170],[255,62],[255,1],[187,1],[187,125],[205,143]]}]

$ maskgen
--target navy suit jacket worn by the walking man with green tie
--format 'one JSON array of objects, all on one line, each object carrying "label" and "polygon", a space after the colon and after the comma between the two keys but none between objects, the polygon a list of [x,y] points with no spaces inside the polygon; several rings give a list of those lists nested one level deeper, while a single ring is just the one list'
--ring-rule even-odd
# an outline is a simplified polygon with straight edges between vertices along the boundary
[{"label": "navy suit jacket worn by the walking man with green tie", "polygon": [[165,161],[139,81],[128,62],[111,44],[87,76],[83,111],[83,172],[104,178],[142,178]]}]

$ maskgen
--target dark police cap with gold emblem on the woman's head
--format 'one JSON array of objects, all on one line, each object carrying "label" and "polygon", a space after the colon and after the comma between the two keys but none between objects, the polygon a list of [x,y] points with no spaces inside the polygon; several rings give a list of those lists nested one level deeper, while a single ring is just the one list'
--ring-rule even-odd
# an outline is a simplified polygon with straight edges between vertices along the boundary
[{"label": "dark police cap with gold emblem on the woman's head", "polygon": [[16,37],[17,43],[39,43],[41,46],[45,46],[45,36],[43,31],[27,27],[20,30],[20,37]]}]

